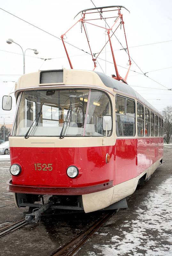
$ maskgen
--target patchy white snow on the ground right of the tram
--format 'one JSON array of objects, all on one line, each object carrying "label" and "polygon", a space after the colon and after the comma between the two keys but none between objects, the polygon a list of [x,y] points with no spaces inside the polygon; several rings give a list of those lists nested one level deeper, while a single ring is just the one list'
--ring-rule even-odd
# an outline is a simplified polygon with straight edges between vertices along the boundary
[{"label": "patchy white snow on the ground right of the tram", "polygon": [[[139,205],[133,220],[125,222],[129,230],[112,236],[111,245],[94,245],[100,253],[89,256],[172,256],[172,177],[149,192]],[[143,205],[146,205],[145,210]],[[145,207],[145,206],[144,206]]]}]

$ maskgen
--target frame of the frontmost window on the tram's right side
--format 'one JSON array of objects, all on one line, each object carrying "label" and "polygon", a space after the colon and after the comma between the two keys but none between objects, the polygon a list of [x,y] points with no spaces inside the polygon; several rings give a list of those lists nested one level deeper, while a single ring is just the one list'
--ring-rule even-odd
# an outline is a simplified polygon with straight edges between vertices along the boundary
[{"label": "frame of the frontmost window on the tram's right side", "polygon": [[[119,114],[119,113],[116,113],[116,97],[121,97],[121,98],[124,98],[125,99],[125,108],[124,108],[124,112],[125,114]],[[126,109],[127,109],[127,100],[133,100],[134,101],[134,108],[135,108],[135,116],[129,116],[129,115],[126,115]],[[132,99],[132,98],[129,98],[129,97],[126,97],[126,96],[123,96],[123,95],[120,95],[120,94],[116,94],[115,95],[115,133],[116,133],[116,115],[121,115],[121,116],[128,116],[128,117],[134,117],[135,118],[135,131],[134,131],[134,135],[117,135],[116,133],[116,137],[135,137],[136,136],[136,100],[135,99]]]}]

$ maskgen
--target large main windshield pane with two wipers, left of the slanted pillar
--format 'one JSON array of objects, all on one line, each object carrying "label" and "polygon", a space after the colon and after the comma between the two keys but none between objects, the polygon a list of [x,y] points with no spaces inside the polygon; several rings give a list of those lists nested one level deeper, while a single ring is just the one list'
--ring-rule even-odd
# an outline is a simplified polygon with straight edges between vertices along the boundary
[{"label": "large main windshield pane with two wipers, left of the slanted pillar", "polygon": [[22,92],[12,135],[24,136],[30,129],[29,136],[60,136],[64,125],[64,136],[83,136],[88,95],[89,89]]}]

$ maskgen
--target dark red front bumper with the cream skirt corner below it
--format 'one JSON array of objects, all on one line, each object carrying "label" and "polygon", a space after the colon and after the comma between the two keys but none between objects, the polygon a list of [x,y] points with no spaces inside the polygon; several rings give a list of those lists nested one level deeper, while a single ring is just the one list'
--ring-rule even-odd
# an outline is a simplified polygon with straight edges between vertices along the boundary
[{"label": "dark red front bumper with the cream skirt corner below it", "polygon": [[[87,187],[35,187],[16,185],[12,180],[7,181],[7,191],[14,193],[16,207],[33,206],[33,204],[19,204],[17,195],[33,194],[36,196],[57,195],[57,196],[80,196],[82,197],[83,208],[76,210],[84,210],[84,212],[93,212],[103,209],[111,204],[113,197],[113,181],[101,183]],[[56,207],[57,208],[57,207]],[[64,207],[63,209],[65,209]],[[60,208],[62,209],[62,208]]]}]

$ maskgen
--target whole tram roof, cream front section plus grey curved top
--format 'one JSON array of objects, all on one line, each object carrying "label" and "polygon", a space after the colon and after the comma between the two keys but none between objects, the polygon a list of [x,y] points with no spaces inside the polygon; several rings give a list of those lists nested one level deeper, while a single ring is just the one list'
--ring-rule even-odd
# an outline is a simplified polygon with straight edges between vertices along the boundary
[{"label": "whole tram roof, cream front section plus grey curved top", "polygon": [[[47,84],[47,80],[45,84],[41,82],[41,76],[43,73],[51,73],[51,72],[59,72],[59,77],[62,80],[59,82],[51,82]],[[61,75],[60,75],[61,73]],[[50,78],[51,79],[51,78]],[[101,82],[100,82],[101,81]],[[140,102],[150,108],[157,115],[162,116],[162,114],[154,108],[147,100],[145,100],[139,93],[137,93],[131,86],[125,84],[121,81],[118,81],[110,76],[107,76],[101,72],[90,71],[90,70],[77,70],[77,69],[55,69],[55,70],[43,70],[30,74],[26,74],[20,76],[15,90],[22,91],[31,88],[45,88],[47,85],[56,87],[57,85],[65,84],[76,84],[76,85],[94,85],[101,87],[109,87],[117,92],[125,93],[129,96],[133,96],[137,98]],[[53,87],[52,87],[53,88]]]}]

